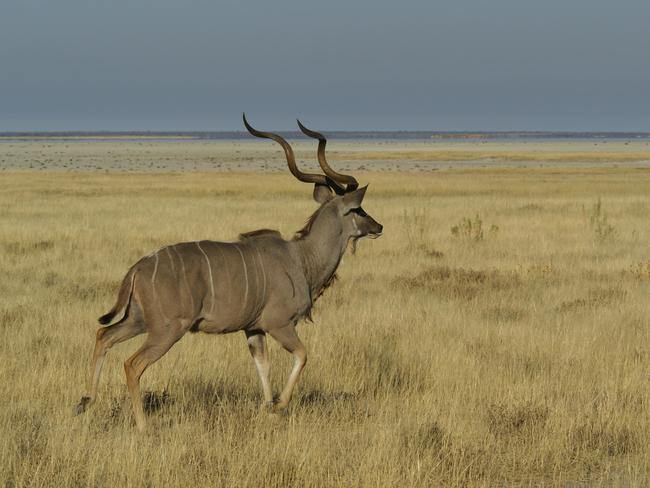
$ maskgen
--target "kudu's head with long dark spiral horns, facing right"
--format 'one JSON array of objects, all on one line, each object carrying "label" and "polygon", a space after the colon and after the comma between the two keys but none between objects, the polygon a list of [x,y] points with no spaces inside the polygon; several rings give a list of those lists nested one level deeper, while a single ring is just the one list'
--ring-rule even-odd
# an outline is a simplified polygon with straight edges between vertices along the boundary
[{"label": "kudu's head with long dark spiral horns, facing right", "polygon": [[[300,181],[314,184],[314,200],[321,207],[312,219],[317,216],[327,219],[330,226],[338,227],[343,237],[352,239],[353,245],[362,237],[376,239],[382,234],[383,226],[361,207],[368,187],[359,188],[359,183],[354,177],[338,173],[329,166],[327,159],[325,159],[327,139],[322,134],[307,129],[298,121],[298,126],[303,134],[318,139],[318,163],[323,173],[325,173],[320,175],[300,171],[296,166],[293,149],[281,136],[254,129],[246,120],[246,115],[244,115],[244,125],[252,135],[272,139],[280,144],[284,149],[291,173]],[[309,232],[312,219],[310,219],[303,232]]]}]

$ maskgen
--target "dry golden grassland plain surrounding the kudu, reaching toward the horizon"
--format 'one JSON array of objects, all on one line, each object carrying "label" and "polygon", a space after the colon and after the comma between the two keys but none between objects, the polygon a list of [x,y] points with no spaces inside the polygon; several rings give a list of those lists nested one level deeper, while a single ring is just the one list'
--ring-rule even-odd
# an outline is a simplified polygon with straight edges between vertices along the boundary
[{"label": "dry golden grassland plain surrounding the kudu, reaching toward the horizon", "polygon": [[[179,144],[199,146],[3,144],[3,486],[650,484],[647,149],[552,164],[503,148],[473,164],[333,153],[370,183],[364,208],[384,235],[346,254],[298,327],[309,360],[289,410],[260,407],[243,334],[188,334],[141,380],[139,433],[122,364],[144,336],[109,351],[97,402],[72,415],[96,318],[129,266],[175,242],[290,238],[316,208],[311,188],[270,142],[251,148],[275,166],[251,170],[222,143],[202,149],[231,151],[221,171],[147,172],[124,155],[150,147],[173,166]],[[270,347],[278,392],[291,358]]]}]

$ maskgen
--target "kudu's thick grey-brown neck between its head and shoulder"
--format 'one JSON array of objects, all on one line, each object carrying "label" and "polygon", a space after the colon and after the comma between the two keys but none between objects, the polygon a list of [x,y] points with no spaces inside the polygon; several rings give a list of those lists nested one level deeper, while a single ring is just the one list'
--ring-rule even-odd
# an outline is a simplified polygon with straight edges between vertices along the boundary
[{"label": "kudu's thick grey-brown neck between its head and shoulder", "polygon": [[323,208],[296,242],[305,277],[316,298],[331,282],[348,244],[335,208]]}]

